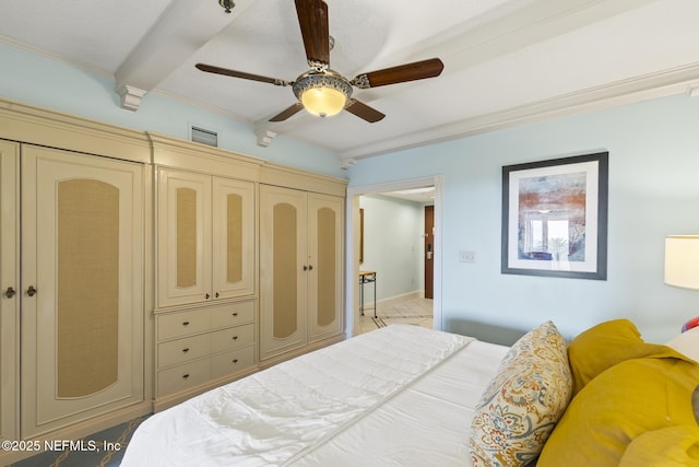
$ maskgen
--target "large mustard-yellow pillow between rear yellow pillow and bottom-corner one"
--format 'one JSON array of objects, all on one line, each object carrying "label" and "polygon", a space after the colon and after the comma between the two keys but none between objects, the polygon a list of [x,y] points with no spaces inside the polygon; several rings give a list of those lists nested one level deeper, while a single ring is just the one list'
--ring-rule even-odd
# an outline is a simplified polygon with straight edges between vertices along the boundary
[{"label": "large mustard-yellow pillow between rear yellow pillow and bottom-corner one", "polygon": [[699,364],[671,349],[666,353],[626,360],[591,381],[568,406],[537,467],[618,466],[631,441],[644,433],[685,427],[691,436]]}]

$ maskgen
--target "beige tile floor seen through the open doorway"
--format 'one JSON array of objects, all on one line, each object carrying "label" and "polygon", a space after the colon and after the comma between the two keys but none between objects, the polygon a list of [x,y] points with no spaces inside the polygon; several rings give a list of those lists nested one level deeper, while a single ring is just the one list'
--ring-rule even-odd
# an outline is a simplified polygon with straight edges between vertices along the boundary
[{"label": "beige tile floor seen through the open doorway", "polygon": [[381,304],[377,310],[377,317],[374,317],[374,308],[364,310],[364,316],[359,317],[359,331],[386,327],[393,323],[411,324],[433,328],[433,301],[431,299],[408,299],[391,305]]}]

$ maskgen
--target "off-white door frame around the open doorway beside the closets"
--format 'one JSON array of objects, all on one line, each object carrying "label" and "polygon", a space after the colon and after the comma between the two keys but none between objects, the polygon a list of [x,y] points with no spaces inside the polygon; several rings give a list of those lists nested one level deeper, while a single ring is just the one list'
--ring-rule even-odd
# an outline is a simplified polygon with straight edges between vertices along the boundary
[{"label": "off-white door frame around the open doorway beside the closets", "polygon": [[[351,187],[347,192],[347,261],[346,261],[346,325],[347,337],[359,334],[359,243],[360,243],[360,214],[359,201],[363,195],[381,195],[400,190],[434,187],[434,206],[431,223],[431,296],[433,296],[433,328],[442,329],[441,314],[441,202],[442,177],[424,177],[381,185]],[[422,235],[422,232],[418,231]],[[426,250],[423,252],[426,254]],[[379,271],[380,273],[380,271]]]}]

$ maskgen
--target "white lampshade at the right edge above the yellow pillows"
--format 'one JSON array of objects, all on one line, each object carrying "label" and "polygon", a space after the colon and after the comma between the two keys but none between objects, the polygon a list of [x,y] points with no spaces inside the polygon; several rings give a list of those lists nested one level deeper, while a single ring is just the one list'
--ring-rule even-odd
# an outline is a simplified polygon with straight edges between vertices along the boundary
[{"label": "white lampshade at the right edge above the yellow pillows", "polygon": [[699,235],[665,238],[665,283],[699,289]]}]

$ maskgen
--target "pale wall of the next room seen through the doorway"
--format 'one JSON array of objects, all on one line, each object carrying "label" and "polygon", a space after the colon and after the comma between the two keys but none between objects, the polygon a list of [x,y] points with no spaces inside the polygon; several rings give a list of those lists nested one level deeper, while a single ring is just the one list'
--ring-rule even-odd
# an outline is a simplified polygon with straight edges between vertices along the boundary
[{"label": "pale wall of the next room seen through the doorway", "polygon": [[[395,297],[424,289],[423,205],[363,196],[364,264],[360,269],[377,271],[377,300]],[[372,285],[365,285],[365,301],[374,300]]]}]

